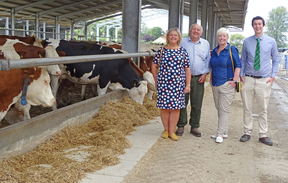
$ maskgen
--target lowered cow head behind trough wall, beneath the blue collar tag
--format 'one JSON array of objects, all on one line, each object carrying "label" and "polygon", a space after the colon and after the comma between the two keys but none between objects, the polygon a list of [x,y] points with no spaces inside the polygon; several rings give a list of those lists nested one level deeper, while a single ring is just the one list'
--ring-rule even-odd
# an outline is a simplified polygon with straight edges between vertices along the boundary
[{"label": "lowered cow head behind trough wall, beneath the blue collar tag", "polygon": [[30,119],[30,107],[30,104],[22,105],[21,99],[19,99],[16,103],[10,106],[4,118],[9,124],[15,124],[26,119]]}]

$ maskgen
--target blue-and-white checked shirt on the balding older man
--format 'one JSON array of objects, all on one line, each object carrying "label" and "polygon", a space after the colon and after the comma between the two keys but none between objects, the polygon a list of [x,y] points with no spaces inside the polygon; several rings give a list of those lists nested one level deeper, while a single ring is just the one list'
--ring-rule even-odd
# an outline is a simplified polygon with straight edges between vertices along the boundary
[{"label": "blue-and-white checked shirt on the balding older man", "polygon": [[180,46],[184,47],[189,56],[191,75],[200,75],[211,71],[210,67],[210,45],[201,37],[194,43],[189,37],[182,39]]}]

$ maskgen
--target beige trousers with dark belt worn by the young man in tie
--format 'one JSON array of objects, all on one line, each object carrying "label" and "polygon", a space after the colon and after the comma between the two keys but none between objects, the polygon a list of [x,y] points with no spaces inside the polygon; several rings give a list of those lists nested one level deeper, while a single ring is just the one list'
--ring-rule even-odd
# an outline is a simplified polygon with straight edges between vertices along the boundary
[{"label": "beige trousers with dark belt worn by the young man in tie", "polygon": [[244,84],[241,86],[241,98],[243,101],[244,110],[244,132],[251,135],[252,133],[252,107],[254,99],[256,99],[258,107],[258,127],[259,138],[267,135],[267,106],[270,97],[271,84],[267,82],[269,78],[255,79],[249,76],[244,76]]}]

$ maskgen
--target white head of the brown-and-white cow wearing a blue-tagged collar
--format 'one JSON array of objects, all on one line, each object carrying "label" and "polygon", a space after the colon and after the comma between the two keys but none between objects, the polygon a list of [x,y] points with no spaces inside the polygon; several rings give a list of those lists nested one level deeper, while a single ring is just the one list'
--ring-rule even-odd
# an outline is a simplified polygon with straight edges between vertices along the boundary
[{"label": "white head of the brown-and-white cow wearing a blue-tagged collar", "polygon": [[[36,68],[37,69],[37,68]],[[31,80],[32,82],[33,80]],[[26,99],[31,105],[42,105],[51,107],[55,103],[50,88],[50,77],[46,71],[46,67],[41,67],[41,75],[34,80],[27,89]]]}]

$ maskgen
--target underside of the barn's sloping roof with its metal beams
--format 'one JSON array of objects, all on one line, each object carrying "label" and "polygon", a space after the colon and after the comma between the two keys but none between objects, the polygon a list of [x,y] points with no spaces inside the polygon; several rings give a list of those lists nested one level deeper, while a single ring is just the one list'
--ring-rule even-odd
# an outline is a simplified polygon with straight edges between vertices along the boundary
[{"label": "underside of the barn's sloping roof with its metal beams", "polygon": [[[249,0],[214,0],[214,11],[221,12],[227,25],[242,30]],[[11,9],[15,12],[15,28],[23,29],[26,20],[35,20],[39,14],[39,22],[71,24],[71,20],[88,21],[122,12],[122,0],[0,0],[0,27],[5,27],[5,18],[10,17]],[[184,1],[184,15],[189,16],[189,2]],[[145,8],[169,9],[169,0],[142,0]],[[198,19],[201,19],[202,0],[198,1]],[[1,17],[2,16],[2,17]],[[25,20],[22,22],[22,20]],[[34,24],[33,21],[30,23]],[[22,24],[22,25],[21,25]],[[30,25],[30,24],[29,24]],[[18,27],[17,27],[18,26]]]}]

